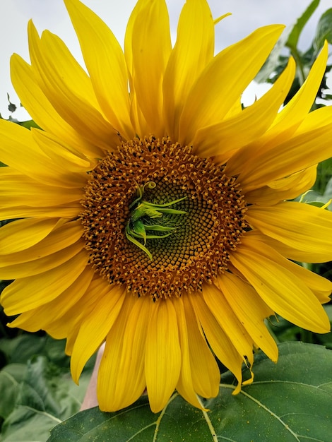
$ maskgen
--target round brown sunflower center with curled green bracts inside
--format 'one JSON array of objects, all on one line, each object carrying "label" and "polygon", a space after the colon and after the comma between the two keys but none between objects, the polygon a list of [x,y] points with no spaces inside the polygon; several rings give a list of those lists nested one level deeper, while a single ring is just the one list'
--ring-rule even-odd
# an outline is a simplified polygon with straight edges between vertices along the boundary
[{"label": "round brown sunflower center with curled green bracts inside", "polygon": [[153,299],[200,290],[225,272],[247,227],[235,178],[169,138],[109,153],[90,172],[81,204],[90,264]]}]

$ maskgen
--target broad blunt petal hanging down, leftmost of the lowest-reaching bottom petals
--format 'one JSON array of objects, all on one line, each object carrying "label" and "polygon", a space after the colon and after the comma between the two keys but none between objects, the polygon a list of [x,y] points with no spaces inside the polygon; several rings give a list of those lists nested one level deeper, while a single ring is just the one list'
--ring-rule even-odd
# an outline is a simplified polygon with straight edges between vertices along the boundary
[{"label": "broad blunt petal hanging down, leftmost of the lowest-reaching bottom petals", "polygon": [[153,301],[126,294],[123,309],[106,340],[98,375],[101,410],[116,411],[135,402],[146,386],[144,354]]}]

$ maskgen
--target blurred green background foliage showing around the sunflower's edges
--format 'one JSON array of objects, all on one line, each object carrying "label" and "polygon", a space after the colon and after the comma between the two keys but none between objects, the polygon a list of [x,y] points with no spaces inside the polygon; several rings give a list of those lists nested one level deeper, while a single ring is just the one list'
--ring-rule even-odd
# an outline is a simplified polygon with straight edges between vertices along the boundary
[{"label": "blurred green background foliage showing around the sunflower's edges", "polygon": [[[298,49],[297,43],[301,32],[318,4],[319,0],[312,1],[297,22],[285,30],[256,77],[257,83],[274,83],[285,68],[289,56],[293,56],[297,63],[297,73],[284,104],[304,83],[324,40],[332,44],[331,8],[319,19],[309,48],[304,52]],[[326,78],[331,68],[332,64],[326,66],[326,73],[312,109],[325,106],[332,99],[332,92],[328,91],[326,85]],[[8,110],[11,112],[9,120],[13,123],[25,126],[27,129],[37,126],[33,121],[16,120],[16,104],[11,102],[9,96]],[[332,159],[319,165],[316,183],[308,193],[308,198],[312,203],[325,204],[331,200]],[[332,205],[326,210],[332,210]],[[0,226],[10,221],[1,222]],[[309,267],[319,275],[332,280],[331,262]],[[10,282],[0,282],[0,292]],[[332,322],[332,304],[326,305],[325,309]],[[4,311],[0,310],[0,441],[46,441],[50,429],[78,412],[94,359],[88,362],[80,386],[76,386],[71,380],[69,357],[66,357],[64,352],[65,342],[53,340],[42,331],[25,333],[23,330],[6,327],[6,323],[12,319],[6,317]],[[292,325],[283,318],[271,318],[266,324],[277,342],[309,342],[332,350],[332,333],[316,335]],[[226,371],[223,366],[220,369]],[[332,436],[330,440],[332,441]]]}]

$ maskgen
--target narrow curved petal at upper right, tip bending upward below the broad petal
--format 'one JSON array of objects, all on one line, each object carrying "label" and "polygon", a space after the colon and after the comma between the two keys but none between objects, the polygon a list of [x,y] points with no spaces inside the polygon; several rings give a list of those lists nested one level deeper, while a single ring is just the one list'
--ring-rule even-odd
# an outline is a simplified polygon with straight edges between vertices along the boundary
[{"label": "narrow curved petal at upper right, tip bending upward below the broad petal", "polygon": [[295,62],[290,59],[273,87],[254,104],[230,119],[198,129],[193,141],[195,153],[204,157],[225,154],[259,138],[275,119],[294,75]]}]

